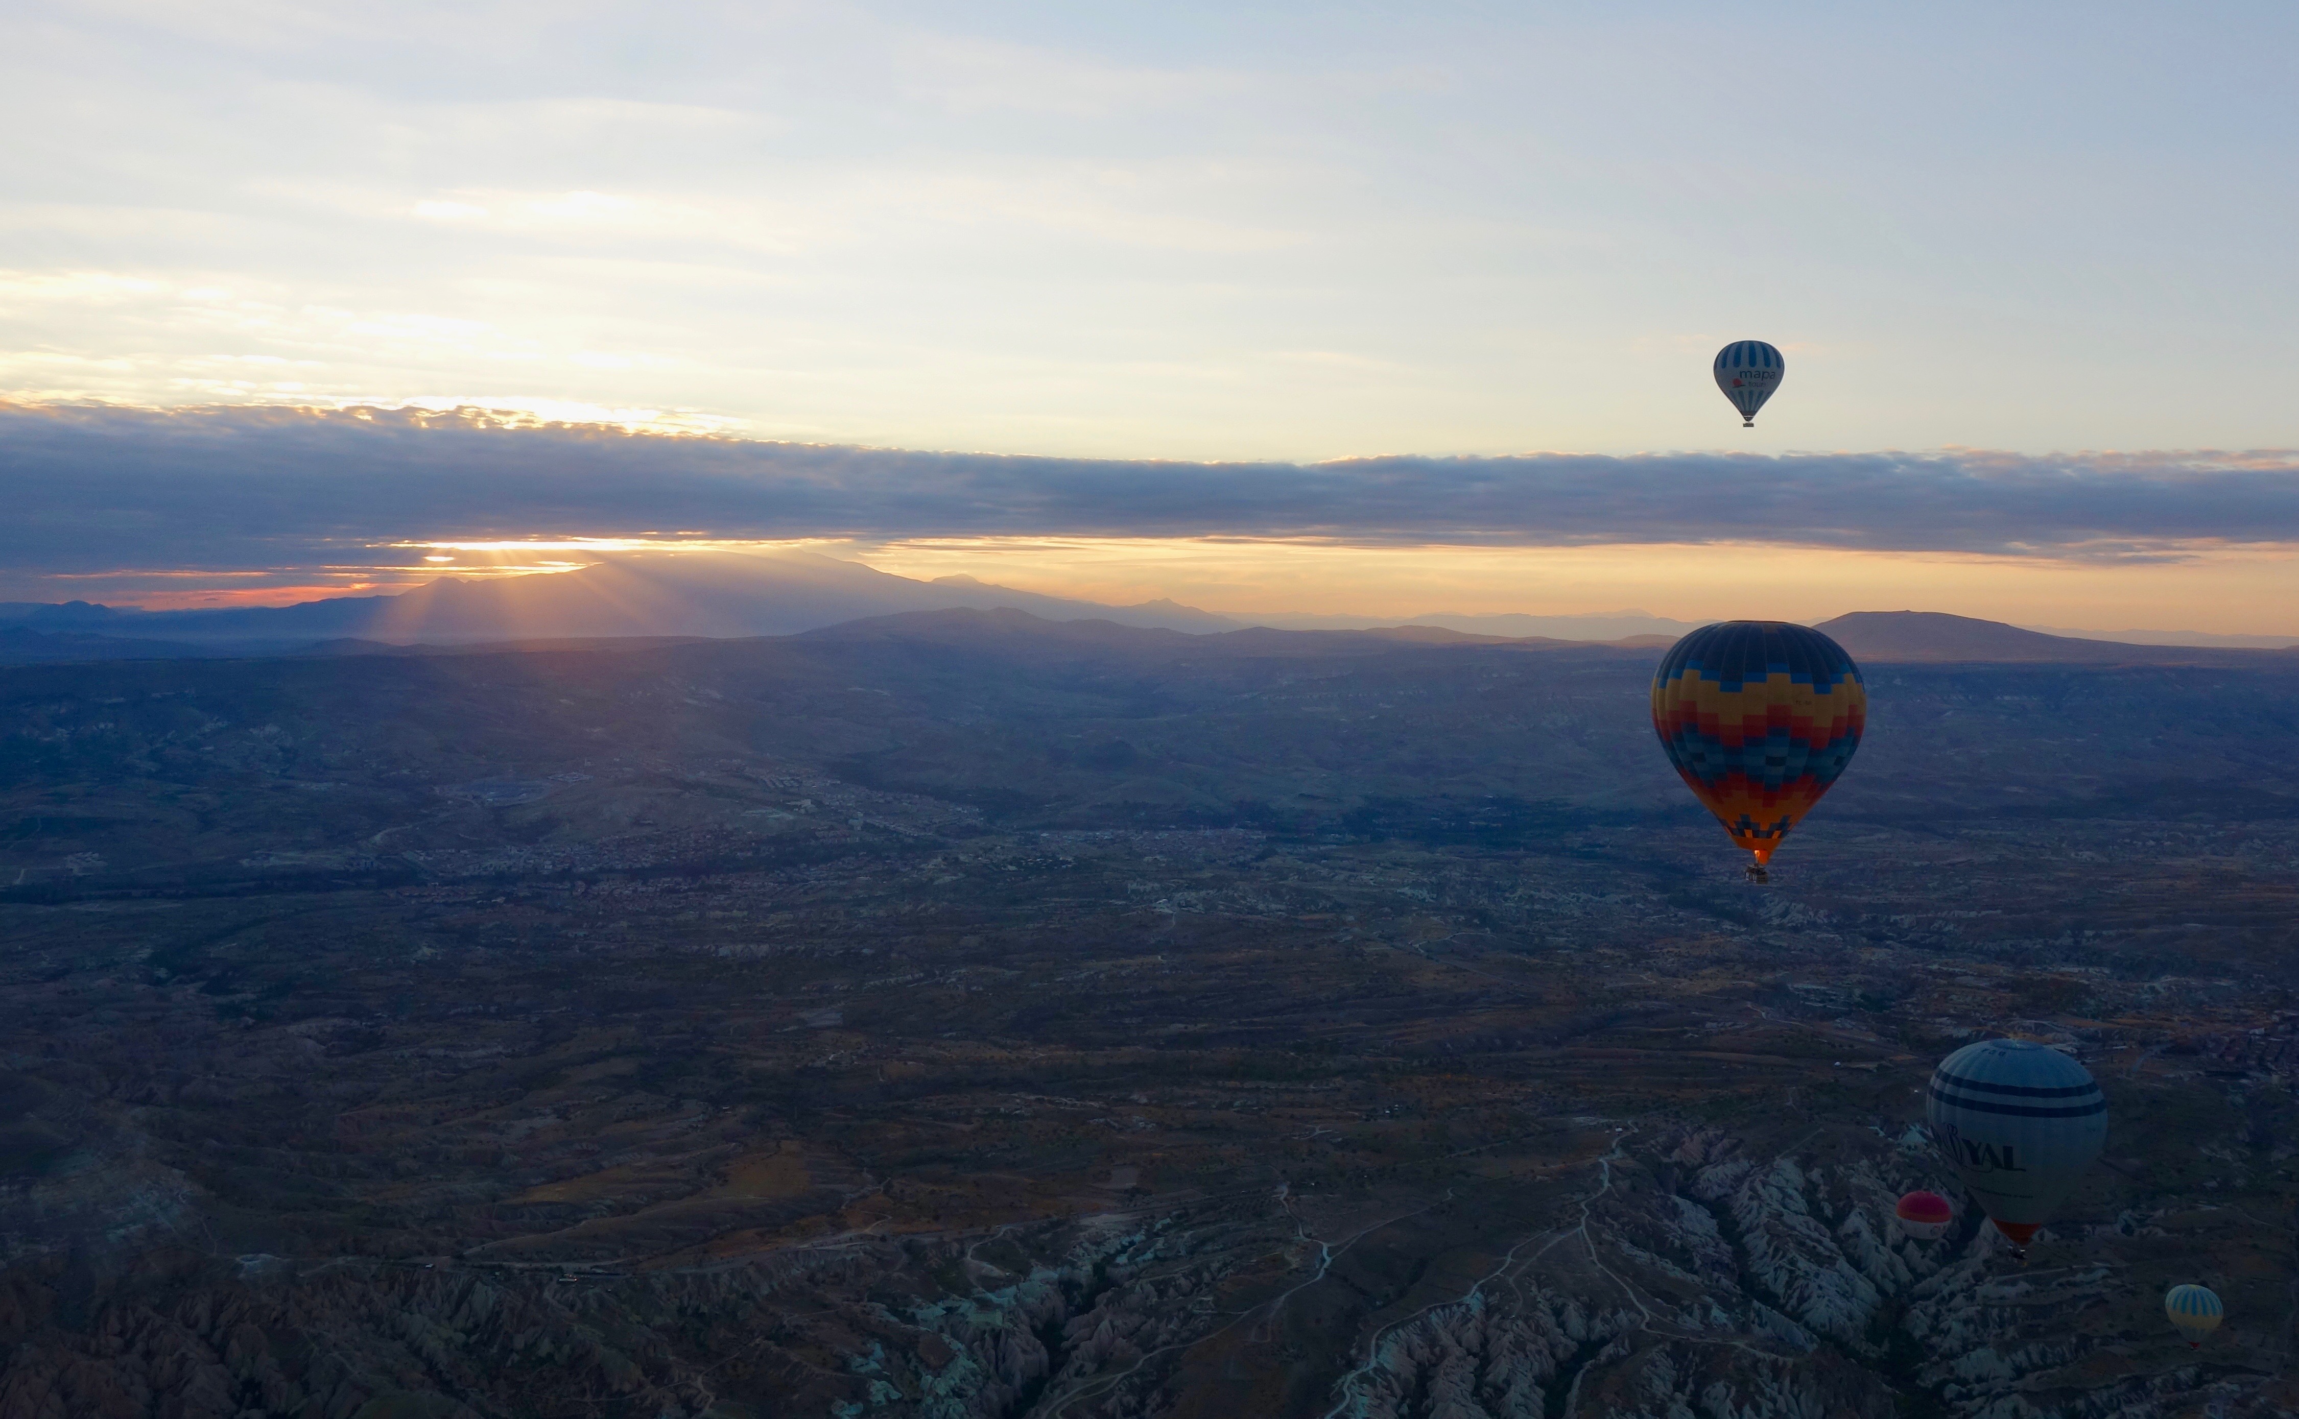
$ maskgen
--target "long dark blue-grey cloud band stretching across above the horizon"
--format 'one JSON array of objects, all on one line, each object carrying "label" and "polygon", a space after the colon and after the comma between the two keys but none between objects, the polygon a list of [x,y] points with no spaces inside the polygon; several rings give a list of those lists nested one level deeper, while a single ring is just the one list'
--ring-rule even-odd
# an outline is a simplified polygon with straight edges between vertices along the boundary
[{"label": "long dark blue-grey cloud band stretching across above the horizon", "polygon": [[1232,536],[2161,559],[2299,543],[2299,453],[1124,462],[768,444],[474,409],[0,405],[0,566],[239,568],[402,538]]}]

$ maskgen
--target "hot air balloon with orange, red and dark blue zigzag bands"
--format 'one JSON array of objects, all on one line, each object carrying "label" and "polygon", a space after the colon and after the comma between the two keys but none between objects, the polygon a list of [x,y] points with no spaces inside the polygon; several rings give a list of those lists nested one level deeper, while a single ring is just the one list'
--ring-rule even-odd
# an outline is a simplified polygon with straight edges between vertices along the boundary
[{"label": "hot air balloon with orange, red and dark blue zigzag bands", "polygon": [[1851,764],[1862,724],[1860,667],[1809,626],[1704,626],[1653,674],[1660,747],[1731,839],[1756,853],[1754,881]]}]

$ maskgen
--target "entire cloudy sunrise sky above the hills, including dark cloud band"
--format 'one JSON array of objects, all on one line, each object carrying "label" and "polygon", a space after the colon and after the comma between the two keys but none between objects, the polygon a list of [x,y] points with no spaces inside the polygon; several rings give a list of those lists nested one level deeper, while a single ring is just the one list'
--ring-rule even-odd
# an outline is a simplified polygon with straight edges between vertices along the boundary
[{"label": "entire cloudy sunrise sky above the hills, including dark cloud band", "polygon": [[[2294,60],[2281,2],[21,2],[0,598],[694,534],[1212,609],[2299,632]],[[1754,430],[1736,338],[1786,354]],[[216,439],[301,492],[170,513]],[[920,455],[1069,471],[956,506]]]}]

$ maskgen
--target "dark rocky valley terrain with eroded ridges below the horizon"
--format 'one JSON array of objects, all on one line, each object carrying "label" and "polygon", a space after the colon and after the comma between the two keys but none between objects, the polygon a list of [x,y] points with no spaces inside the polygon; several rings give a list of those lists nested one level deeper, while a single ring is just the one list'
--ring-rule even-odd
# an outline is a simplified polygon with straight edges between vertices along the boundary
[{"label": "dark rocky valley terrain with eroded ridges below the horizon", "polygon": [[[1752,888],[1653,655],[9,669],[0,1414],[2299,1412],[2299,674],[1869,665]],[[1892,1228],[1982,1033],[2025,1265]]]}]

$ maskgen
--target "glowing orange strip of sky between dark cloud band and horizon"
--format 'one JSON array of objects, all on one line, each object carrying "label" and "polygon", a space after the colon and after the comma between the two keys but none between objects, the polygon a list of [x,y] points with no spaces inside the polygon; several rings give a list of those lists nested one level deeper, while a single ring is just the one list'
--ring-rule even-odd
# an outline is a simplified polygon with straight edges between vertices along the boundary
[{"label": "glowing orange strip of sky between dark cloud band and horizon", "polygon": [[[1687,545],[1359,545],[1331,538],[690,538],[543,536],[370,543],[377,561],[260,570],[115,568],[69,573],[74,596],[149,609],[290,605],[391,596],[448,577],[508,582],[632,559],[614,584],[635,596],[644,561],[681,554],[828,554],[883,573],[984,582],[1106,605],[1170,598],[1207,612],[1614,614],[1706,621],[1821,621],[1853,609],[1931,609],[2023,626],[2299,635],[2299,545],[2184,545],[2161,559],[1858,552],[1761,543]],[[409,552],[421,552],[409,557]],[[384,563],[386,557],[405,561]],[[706,568],[697,568],[706,570]],[[85,586],[108,582],[110,586]],[[538,586],[540,589],[540,586]],[[595,589],[593,589],[595,591]],[[57,598],[62,600],[62,596]]]}]

